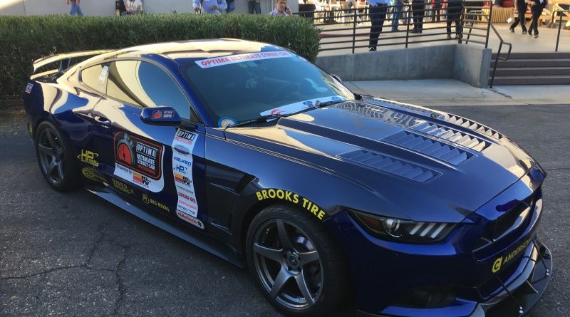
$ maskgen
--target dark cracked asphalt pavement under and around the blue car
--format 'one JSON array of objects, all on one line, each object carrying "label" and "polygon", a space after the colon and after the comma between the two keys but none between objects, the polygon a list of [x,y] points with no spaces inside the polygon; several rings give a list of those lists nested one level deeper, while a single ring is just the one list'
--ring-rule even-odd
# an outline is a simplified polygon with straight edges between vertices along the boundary
[{"label": "dark cracked asphalt pavement under and around the blue car", "polygon": [[[570,105],[437,109],[499,130],[548,172],[538,233],[554,270],[530,316],[570,316]],[[0,115],[0,170],[0,316],[277,315],[246,270],[85,190],[54,192],[19,110]]]}]

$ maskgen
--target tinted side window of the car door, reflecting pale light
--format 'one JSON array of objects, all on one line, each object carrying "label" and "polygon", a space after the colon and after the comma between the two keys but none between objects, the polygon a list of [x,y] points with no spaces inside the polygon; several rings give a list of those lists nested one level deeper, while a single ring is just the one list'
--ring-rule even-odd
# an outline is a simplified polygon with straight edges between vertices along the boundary
[{"label": "tinted side window of the car door, reflecting pale light", "polygon": [[107,95],[142,107],[170,105],[190,119],[190,103],[160,67],[144,61],[115,61],[109,69]]}]

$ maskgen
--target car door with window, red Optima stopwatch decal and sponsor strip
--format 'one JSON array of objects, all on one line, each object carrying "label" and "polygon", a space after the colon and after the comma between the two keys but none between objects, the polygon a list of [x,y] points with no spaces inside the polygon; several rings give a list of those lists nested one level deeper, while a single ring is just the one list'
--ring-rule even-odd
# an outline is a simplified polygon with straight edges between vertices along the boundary
[{"label": "car door with window, red Optima stopwatch decal and sponsor strip", "polygon": [[93,117],[108,155],[110,187],[143,207],[204,229],[204,127],[150,125],[142,108],[170,105],[181,118],[197,121],[186,95],[165,68],[151,61],[109,63],[106,95]]}]

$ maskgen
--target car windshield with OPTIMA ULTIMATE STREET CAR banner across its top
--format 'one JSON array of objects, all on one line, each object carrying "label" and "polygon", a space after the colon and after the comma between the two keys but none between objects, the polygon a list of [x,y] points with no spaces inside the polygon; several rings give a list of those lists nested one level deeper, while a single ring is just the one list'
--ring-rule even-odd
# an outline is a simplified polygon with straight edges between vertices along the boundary
[{"label": "car windshield with OPTIMA ULTIMATE STREET CAR banner across its top", "polygon": [[207,58],[181,69],[219,127],[354,98],[320,68],[286,51]]}]

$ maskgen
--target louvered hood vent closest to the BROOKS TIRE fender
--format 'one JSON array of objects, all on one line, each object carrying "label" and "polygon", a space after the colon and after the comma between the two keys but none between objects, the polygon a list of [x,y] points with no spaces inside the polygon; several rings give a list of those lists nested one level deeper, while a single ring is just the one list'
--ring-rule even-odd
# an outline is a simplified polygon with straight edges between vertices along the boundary
[{"label": "louvered hood vent closest to the BROOKS TIRE fender", "polygon": [[439,175],[438,172],[427,170],[423,167],[412,165],[407,162],[401,162],[393,157],[380,155],[376,152],[370,152],[367,150],[347,152],[338,155],[338,157],[367,167],[372,167],[375,170],[381,170],[393,175],[415,180],[417,182],[427,182],[433,177]]}]

